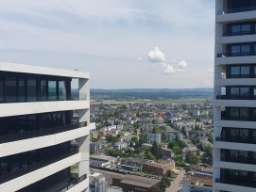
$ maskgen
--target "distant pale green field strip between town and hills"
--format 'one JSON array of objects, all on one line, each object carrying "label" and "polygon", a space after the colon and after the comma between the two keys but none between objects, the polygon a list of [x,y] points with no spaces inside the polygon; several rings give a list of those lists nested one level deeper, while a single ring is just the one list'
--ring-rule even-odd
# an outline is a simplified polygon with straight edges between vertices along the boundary
[{"label": "distant pale green field strip between town and hills", "polygon": [[178,100],[155,100],[155,101],[145,101],[145,100],[135,100],[135,101],[106,101],[106,102],[91,102],[91,104],[198,104],[204,102],[206,98],[182,98]]}]

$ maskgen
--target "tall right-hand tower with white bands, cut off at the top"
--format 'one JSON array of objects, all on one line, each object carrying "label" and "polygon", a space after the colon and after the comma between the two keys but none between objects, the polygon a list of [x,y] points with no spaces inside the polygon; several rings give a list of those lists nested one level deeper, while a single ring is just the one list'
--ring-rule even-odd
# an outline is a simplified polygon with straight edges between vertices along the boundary
[{"label": "tall right-hand tower with white bands, cut off at the top", "polygon": [[256,191],[256,1],[216,0],[213,191]]}]

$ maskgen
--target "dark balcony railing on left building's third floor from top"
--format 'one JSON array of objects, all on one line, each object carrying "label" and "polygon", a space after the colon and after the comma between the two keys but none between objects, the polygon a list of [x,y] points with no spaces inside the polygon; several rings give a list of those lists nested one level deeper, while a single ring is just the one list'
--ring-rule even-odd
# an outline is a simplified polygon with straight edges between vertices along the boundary
[{"label": "dark balcony railing on left building's third floor from top", "polygon": [[20,169],[14,170],[12,172],[6,173],[4,175],[1,175],[0,176],[0,184],[4,184],[6,182],[9,182],[10,180],[21,177],[21,176],[23,176],[23,175],[25,175],[29,172],[32,172],[34,170],[49,166],[51,164],[54,164],[54,163],[56,163],[56,162],[58,162],[62,159],[68,158],[68,157],[73,156],[77,153],[78,153],[78,149],[75,149],[75,150],[72,150],[70,152],[66,152],[66,153],[64,153],[64,154],[60,155],[59,157],[54,158],[52,160],[49,160],[49,161],[46,161],[46,162],[35,163],[35,164],[33,164],[31,166],[28,166],[26,168],[20,168]]}]

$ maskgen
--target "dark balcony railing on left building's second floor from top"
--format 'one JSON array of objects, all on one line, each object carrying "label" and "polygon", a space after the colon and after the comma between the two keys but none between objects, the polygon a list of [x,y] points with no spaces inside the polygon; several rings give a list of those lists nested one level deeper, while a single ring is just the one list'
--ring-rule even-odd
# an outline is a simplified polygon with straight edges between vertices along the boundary
[{"label": "dark balcony railing on left building's second floor from top", "polygon": [[81,128],[87,126],[87,121],[79,122],[77,124],[71,124],[71,125],[65,125],[55,128],[45,128],[37,131],[31,131],[31,132],[23,132],[20,134],[12,134],[7,136],[0,136],[0,143],[7,143],[7,142],[13,142],[17,140],[23,140],[33,137],[39,137],[39,136],[49,136],[49,135],[55,135],[62,132],[71,131],[77,128]]}]

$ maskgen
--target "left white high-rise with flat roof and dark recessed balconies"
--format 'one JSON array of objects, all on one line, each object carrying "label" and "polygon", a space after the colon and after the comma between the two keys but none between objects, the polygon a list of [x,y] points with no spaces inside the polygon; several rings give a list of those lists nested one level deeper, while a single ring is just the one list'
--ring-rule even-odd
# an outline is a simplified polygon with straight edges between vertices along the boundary
[{"label": "left white high-rise with flat roof and dark recessed balconies", "polygon": [[0,62],[0,191],[89,191],[89,79]]}]

